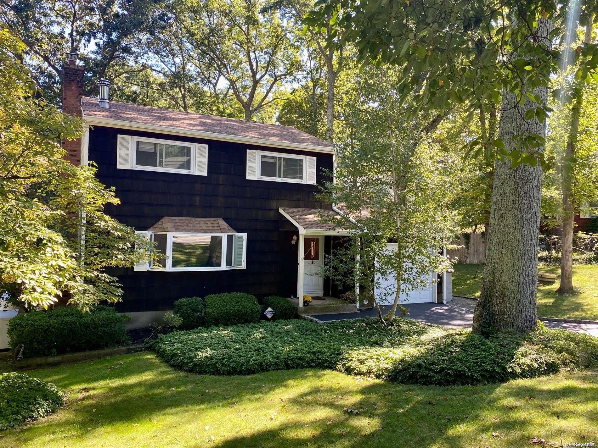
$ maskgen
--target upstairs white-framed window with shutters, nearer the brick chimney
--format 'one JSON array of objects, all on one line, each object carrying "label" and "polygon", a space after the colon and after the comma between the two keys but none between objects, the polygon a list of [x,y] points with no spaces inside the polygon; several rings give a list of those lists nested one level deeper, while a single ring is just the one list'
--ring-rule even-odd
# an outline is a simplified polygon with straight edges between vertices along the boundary
[{"label": "upstairs white-framed window with shutters, nearer the brick chimney", "polygon": [[207,176],[208,145],[119,134],[117,168]]}]

